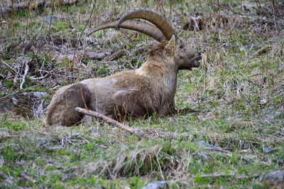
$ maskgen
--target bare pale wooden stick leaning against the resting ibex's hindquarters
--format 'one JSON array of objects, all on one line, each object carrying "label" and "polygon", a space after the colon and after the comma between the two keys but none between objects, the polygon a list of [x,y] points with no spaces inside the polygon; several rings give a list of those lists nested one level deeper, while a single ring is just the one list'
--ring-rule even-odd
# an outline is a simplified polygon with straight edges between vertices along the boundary
[{"label": "bare pale wooden stick leaning against the resting ibex's hindquarters", "polygon": [[92,116],[92,117],[97,117],[99,119],[103,119],[104,121],[106,121],[110,124],[113,124],[114,126],[119,127],[119,129],[123,129],[124,131],[128,131],[129,133],[131,133],[135,136],[146,137],[147,139],[151,139],[153,141],[161,141],[160,139],[155,138],[154,136],[150,136],[148,134],[145,134],[142,131],[139,131],[138,129],[132,129],[131,127],[126,126],[125,124],[121,124],[121,123],[119,123],[119,121],[111,119],[110,117],[107,117],[104,114],[100,114],[99,112],[94,112],[94,111],[84,109],[84,108],[80,108],[80,107],[76,107],[75,110],[78,111],[78,112],[81,112],[83,114],[87,114],[89,116]]}]

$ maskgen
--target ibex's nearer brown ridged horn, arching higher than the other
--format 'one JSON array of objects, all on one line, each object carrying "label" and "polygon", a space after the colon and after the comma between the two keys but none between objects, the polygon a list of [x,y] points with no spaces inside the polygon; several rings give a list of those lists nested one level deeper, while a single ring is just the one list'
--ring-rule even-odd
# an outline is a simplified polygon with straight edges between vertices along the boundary
[{"label": "ibex's nearer brown ridged horn, arching higher than the other", "polygon": [[160,29],[167,40],[170,40],[173,35],[176,35],[175,29],[170,26],[170,23],[168,23],[163,16],[160,16],[160,14],[147,9],[136,9],[129,11],[126,13],[126,15],[119,19],[119,23],[117,23],[116,28],[120,28],[120,24],[132,18],[142,18],[146,21],[150,21]]}]

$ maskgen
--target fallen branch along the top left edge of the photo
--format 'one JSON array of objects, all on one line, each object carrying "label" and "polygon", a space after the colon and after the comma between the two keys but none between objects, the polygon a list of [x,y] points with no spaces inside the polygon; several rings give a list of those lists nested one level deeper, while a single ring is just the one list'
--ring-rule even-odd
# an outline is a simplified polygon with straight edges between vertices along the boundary
[{"label": "fallen branch along the top left edge of the photo", "polygon": [[76,4],[77,2],[79,2],[79,0],[62,0],[59,1],[58,3],[53,3],[51,1],[43,1],[43,2],[39,2],[39,3],[35,3],[35,4],[19,4],[16,6],[6,6],[4,8],[2,8],[0,10],[0,14],[4,15],[7,13],[15,13],[18,11],[24,11],[24,10],[28,10],[28,9],[36,9],[38,7],[44,7],[44,6],[57,6],[57,5],[69,5],[69,4]]}]

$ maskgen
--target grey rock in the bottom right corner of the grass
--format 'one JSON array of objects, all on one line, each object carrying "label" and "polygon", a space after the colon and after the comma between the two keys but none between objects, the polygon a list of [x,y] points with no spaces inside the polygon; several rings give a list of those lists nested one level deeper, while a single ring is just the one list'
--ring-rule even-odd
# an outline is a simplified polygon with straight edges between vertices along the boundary
[{"label": "grey rock in the bottom right corner of the grass", "polygon": [[264,187],[268,188],[284,188],[284,171],[271,171],[267,173],[261,180]]}]

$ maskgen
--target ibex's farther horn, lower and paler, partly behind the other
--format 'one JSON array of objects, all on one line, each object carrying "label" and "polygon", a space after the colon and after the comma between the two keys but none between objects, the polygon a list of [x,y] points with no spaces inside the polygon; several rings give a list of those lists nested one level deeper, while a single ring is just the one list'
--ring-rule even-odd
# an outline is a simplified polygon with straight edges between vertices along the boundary
[{"label": "ibex's farther horn, lower and paler, partly behind the other", "polygon": [[[87,35],[89,36],[96,31],[106,29],[106,28],[116,28],[116,25],[118,23],[119,23],[119,19],[105,21],[95,26],[94,30],[88,33]],[[157,27],[149,23],[143,22],[143,21],[134,21],[134,20],[125,21],[124,23],[120,24],[119,28],[125,28],[125,29],[130,29],[133,31],[138,31],[140,33],[144,33],[145,35],[150,36],[151,38],[159,42],[165,39],[165,36]]]}]

